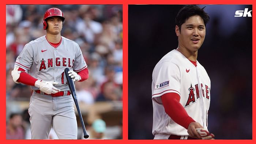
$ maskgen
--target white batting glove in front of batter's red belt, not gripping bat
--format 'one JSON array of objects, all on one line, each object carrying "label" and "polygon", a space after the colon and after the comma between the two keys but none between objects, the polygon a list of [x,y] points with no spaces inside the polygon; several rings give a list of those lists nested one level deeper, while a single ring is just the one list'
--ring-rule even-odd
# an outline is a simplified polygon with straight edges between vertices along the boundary
[{"label": "white batting glove in front of batter's red belt, not gripping bat", "polygon": [[46,82],[43,80],[35,81],[35,87],[40,88],[40,91],[46,94],[55,94],[60,91],[60,89],[54,87],[53,85],[58,84],[57,82]]}]

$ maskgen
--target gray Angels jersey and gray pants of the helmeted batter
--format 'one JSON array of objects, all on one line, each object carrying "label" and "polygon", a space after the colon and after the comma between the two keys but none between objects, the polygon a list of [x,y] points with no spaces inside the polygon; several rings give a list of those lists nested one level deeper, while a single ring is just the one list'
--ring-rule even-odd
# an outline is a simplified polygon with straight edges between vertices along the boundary
[{"label": "gray Angels jersey and gray pants of the helmeted batter", "polygon": [[[55,87],[61,91],[69,90],[64,75],[65,68],[75,72],[87,68],[77,43],[61,37],[60,44],[54,47],[46,39],[46,35],[27,43],[16,58],[15,66],[25,69],[36,79],[59,83]],[[39,90],[34,86],[32,89]],[[51,126],[59,139],[77,139],[73,99],[67,92],[63,96],[52,97],[33,91],[29,114],[32,139],[48,139]]]}]

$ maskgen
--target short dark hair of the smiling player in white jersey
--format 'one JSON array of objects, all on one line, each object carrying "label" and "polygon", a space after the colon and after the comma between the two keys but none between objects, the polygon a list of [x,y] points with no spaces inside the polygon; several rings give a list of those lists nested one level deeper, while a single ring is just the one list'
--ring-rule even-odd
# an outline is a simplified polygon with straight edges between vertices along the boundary
[{"label": "short dark hair of the smiling player in white jersey", "polygon": [[186,5],[182,7],[175,18],[175,24],[179,27],[179,30],[181,30],[181,25],[194,15],[199,15],[206,26],[210,20],[210,16],[204,11],[204,8],[200,8],[198,5]]}]

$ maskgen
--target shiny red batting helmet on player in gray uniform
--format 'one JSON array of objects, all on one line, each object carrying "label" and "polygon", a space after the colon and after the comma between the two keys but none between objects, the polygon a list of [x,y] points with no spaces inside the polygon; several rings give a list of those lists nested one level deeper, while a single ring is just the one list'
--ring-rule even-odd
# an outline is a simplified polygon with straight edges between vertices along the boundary
[{"label": "shiny red batting helmet on player in gray uniform", "polygon": [[63,12],[59,8],[50,8],[45,12],[45,15],[44,15],[44,19],[43,19],[44,30],[46,30],[47,28],[46,19],[52,16],[60,16],[62,18],[62,22],[64,22],[65,20],[65,18],[63,17]]}]

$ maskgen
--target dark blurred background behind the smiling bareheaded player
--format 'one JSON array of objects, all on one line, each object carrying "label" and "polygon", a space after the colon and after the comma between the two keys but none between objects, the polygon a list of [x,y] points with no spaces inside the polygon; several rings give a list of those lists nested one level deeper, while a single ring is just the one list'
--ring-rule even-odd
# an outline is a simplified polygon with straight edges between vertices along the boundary
[{"label": "dark blurred background behind the smiling bareheaded player", "polygon": [[[128,6],[128,139],[153,139],[152,72],[178,46],[175,17],[183,6]],[[252,5],[204,9],[211,19],[197,60],[211,79],[208,130],[216,139],[252,139],[252,17],[234,17],[245,8]]]}]

